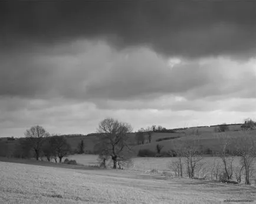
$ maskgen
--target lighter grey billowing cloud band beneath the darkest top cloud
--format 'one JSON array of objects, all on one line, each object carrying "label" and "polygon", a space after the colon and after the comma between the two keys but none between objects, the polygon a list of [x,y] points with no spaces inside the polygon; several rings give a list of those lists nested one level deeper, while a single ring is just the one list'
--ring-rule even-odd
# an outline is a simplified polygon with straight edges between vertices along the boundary
[{"label": "lighter grey billowing cloud band beneath the darkest top cloud", "polygon": [[[67,53],[72,48],[74,52]],[[64,53],[63,53],[64,51]],[[173,66],[147,48],[117,52],[104,42],[79,41],[35,53],[0,56],[0,95],[25,98],[150,100],[256,97],[256,61],[182,61]]]}]

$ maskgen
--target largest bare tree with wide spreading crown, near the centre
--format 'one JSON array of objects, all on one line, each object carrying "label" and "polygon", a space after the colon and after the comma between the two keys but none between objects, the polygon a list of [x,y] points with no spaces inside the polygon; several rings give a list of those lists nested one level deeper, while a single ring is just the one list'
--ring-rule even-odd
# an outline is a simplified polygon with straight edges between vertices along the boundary
[{"label": "largest bare tree with wide spreading crown, near the centre", "polygon": [[132,132],[132,126],[128,123],[119,122],[113,118],[106,118],[100,122],[98,132],[99,142],[96,149],[100,155],[110,157],[113,161],[113,169],[117,169],[120,161],[129,160],[131,147],[127,142],[127,133]]}]

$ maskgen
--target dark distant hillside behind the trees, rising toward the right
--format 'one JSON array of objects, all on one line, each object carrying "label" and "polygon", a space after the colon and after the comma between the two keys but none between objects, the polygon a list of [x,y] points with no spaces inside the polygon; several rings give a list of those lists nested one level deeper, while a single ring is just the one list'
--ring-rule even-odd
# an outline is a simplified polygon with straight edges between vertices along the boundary
[{"label": "dark distant hillside behind the trees, rising toward the right", "polygon": [[[236,136],[239,134],[238,131],[241,130],[242,124],[228,124],[229,131],[226,132],[228,135]],[[172,132],[163,133],[163,132],[153,132],[152,133],[152,139],[151,143],[147,143],[147,135],[145,133],[145,144],[144,145],[137,145],[136,141],[136,133],[129,133],[128,136],[128,142],[134,146],[135,152],[139,151],[139,149],[151,149],[152,151],[155,151],[157,143],[162,144],[164,147],[162,151],[168,151],[173,148],[173,143],[175,142],[184,142],[189,141],[191,137],[189,135],[196,134],[198,135],[198,145],[201,146],[203,149],[213,149],[216,146],[218,146],[217,136],[215,132],[215,128],[218,125],[212,125],[212,126],[197,126],[197,127],[191,127],[191,128],[178,128],[178,129],[172,129]],[[256,133],[256,130],[253,131]],[[98,138],[101,134],[100,133],[90,133],[87,135],[83,134],[65,134],[65,138],[67,138],[68,143],[70,143],[71,148],[73,152],[78,149],[78,144],[81,142],[81,140],[84,141],[84,151],[86,153],[93,153],[94,152],[94,145],[98,141]],[[164,140],[162,139],[164,138]],[[169,139],[168,139],[169,138]],[[175,139],[173,139],[175,138]],[[3,153],[8,152],[9,155],[12,154],[12,152],[15,149],[15,145],[24,138],[0,138],[0,151]],[[162,140],[162,141],[161,141]],[[136,153],[135,153],[136,154]]]}]

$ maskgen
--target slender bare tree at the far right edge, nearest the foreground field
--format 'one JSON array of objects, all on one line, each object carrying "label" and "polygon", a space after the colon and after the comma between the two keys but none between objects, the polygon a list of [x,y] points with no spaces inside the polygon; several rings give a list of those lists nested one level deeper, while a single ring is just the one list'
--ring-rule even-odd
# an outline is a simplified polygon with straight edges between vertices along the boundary
[{"label": "slender bare tree at the far right edge, nearest the foreground field", "polygon": [[237,141],[237,155],[241,157],[241,166],[244,167],[245,184],[251,183],[251,172],[256,158],[256,139],[250,133],[244,132]]}]

